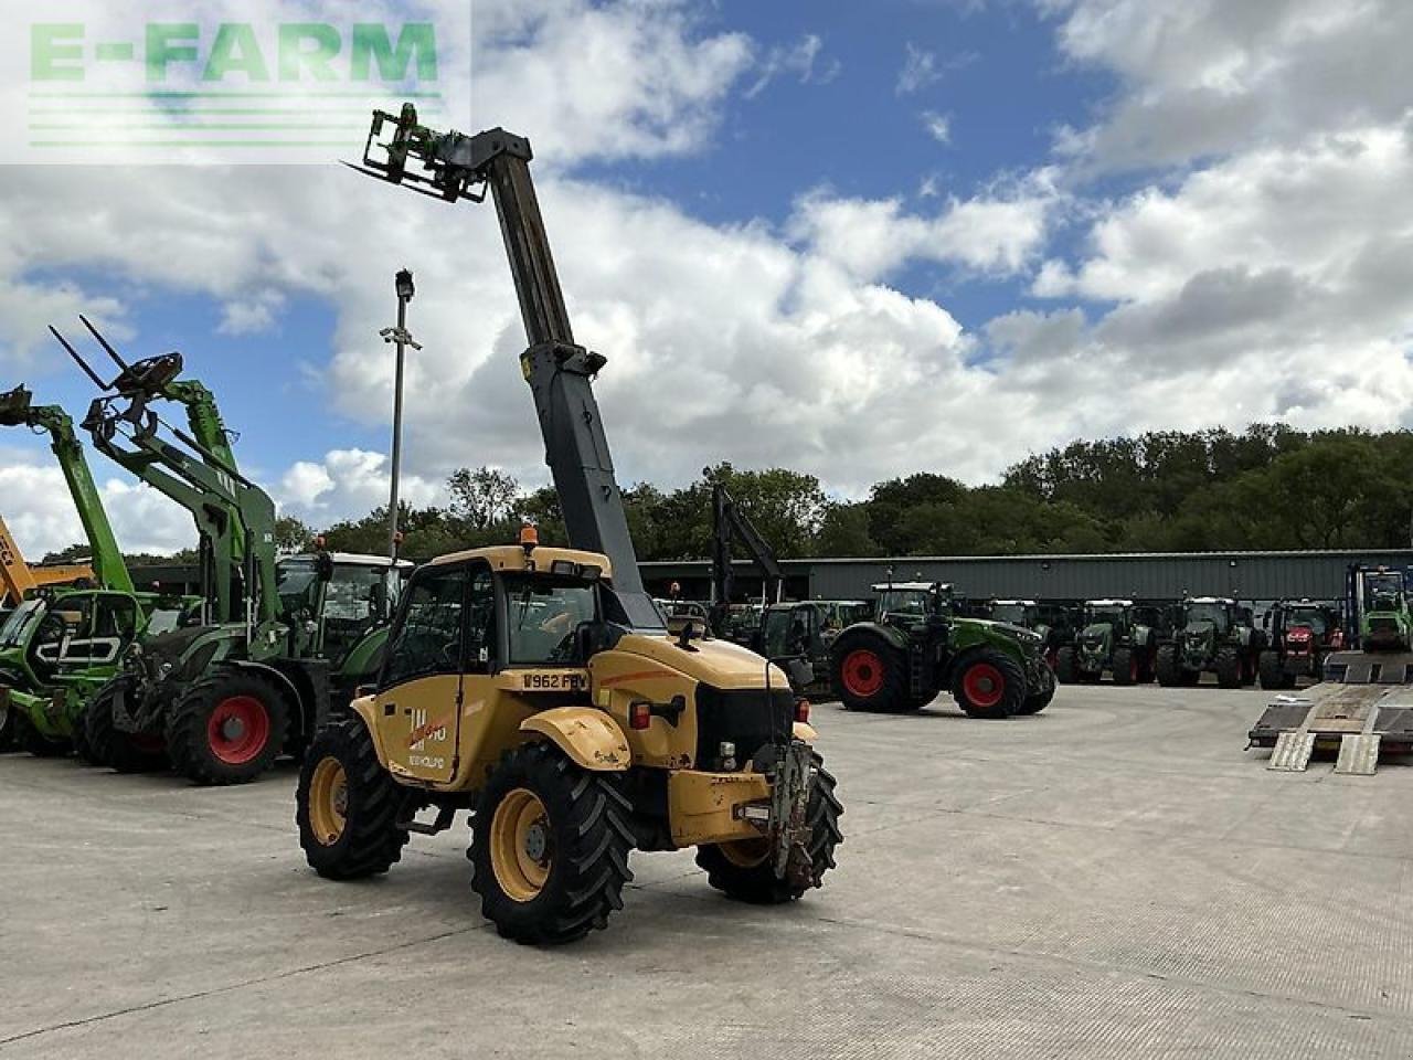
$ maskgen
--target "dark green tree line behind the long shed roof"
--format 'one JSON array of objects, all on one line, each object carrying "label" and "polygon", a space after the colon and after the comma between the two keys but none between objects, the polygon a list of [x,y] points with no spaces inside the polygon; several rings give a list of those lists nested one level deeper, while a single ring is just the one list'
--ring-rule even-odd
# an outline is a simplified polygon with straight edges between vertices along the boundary
[{"label": "dark green tree line behind the long shed roof", "polygon": [[[643,560],[711,554],[714,479],[781,558],[1397,548],[1413,534],[1409,466],[1413,432],[1258,424],[1074,441],[983,486],[920,471],[841,500],[814,475],[718,464],[680,489],[642,482],[623,499]],[[513,541],[524,523],[540,527],[544,544],[567,543],[550,486],[524,489],[486,466],[462,468],[447,486],[444,506],[403,506],[408,558]],[[287,550],[315,537],[291,517],[277,531]],[[335,551],[382,553],[386,534],[386,506],[322,529]]]}]

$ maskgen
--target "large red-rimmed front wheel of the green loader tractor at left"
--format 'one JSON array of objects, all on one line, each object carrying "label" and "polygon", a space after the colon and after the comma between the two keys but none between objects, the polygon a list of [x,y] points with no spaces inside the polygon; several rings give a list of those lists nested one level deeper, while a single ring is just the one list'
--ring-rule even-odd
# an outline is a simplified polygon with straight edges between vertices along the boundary
[{"label": "large red-rimmed front wheel of the green loader tractor at left", "polygon": [[220,669],[194,681],[167,714],[172,769],[206,784],[244,784],[284,749],[290,704],[267,677]]}]

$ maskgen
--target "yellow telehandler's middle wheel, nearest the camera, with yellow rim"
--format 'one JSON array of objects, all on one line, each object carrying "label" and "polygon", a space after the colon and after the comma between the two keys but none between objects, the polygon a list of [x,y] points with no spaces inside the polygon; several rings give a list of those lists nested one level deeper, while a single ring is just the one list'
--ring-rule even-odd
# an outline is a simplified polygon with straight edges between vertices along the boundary
[{"label": "yellow telehandler's middle wheel, nearest the camera, with yellow rim", "polygon": [[504,938],[558,944],[623,907],[633,849],[627,799],[551,743],[507,750],[476,801],[472,889]]}]

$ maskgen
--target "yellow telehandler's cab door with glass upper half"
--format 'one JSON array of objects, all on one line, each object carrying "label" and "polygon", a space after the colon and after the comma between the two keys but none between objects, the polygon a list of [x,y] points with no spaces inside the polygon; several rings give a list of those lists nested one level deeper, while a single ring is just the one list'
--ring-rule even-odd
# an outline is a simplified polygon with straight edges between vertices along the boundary
[{"label": "yellow telehandler's cab door with glass upper half", "polygon": [[455,773],[468,587],[466,564],[424,567],[389,635],[374,707],[394,773],[434,782]]}]

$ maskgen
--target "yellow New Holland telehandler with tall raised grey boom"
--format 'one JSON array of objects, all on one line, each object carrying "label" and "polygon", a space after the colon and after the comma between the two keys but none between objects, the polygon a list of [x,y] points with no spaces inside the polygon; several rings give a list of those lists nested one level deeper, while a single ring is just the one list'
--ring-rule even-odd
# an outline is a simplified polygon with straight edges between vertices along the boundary
[{"label": "yellow New Holland telehandler with tall raised grey boom", "polygon": [[304,759],[300,842],[319,875],[367,876],[469,810],[482,912],[524,943],[603,927],[634,847],[695,847],[714,888],[797,899],[842,838],[807,702],[699,623],[670,636],[643,591],[591,384],[606,362],[574,342],[530,157],[504,130],[435,133],[407,105],[374,113],[363,168],[448,202],[493,196],[571,547],[530,534],[413,575],[374,687]]}]

